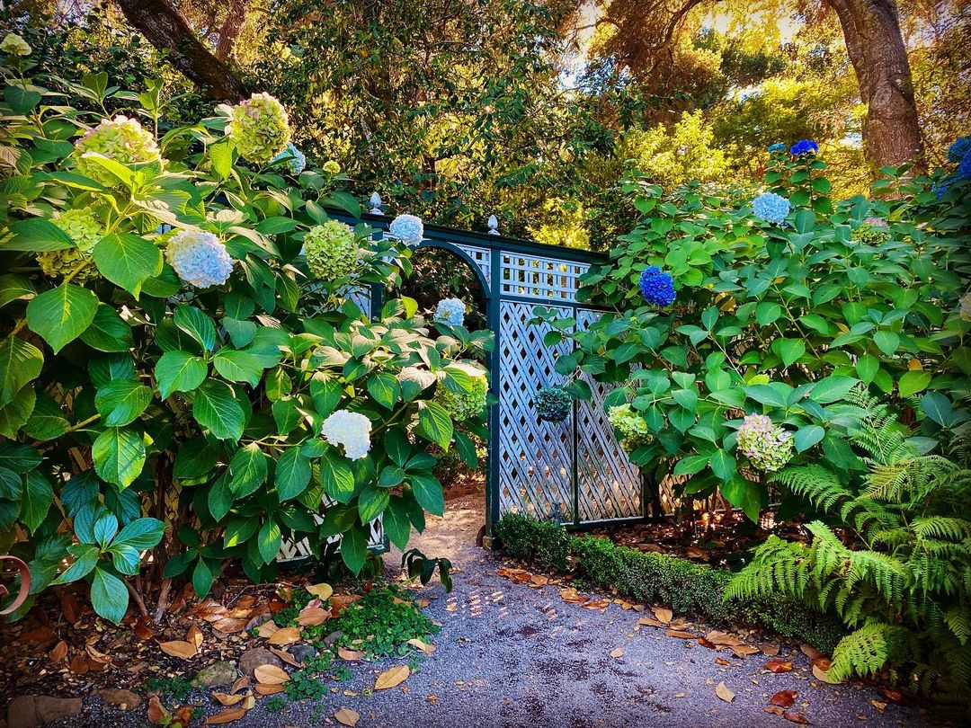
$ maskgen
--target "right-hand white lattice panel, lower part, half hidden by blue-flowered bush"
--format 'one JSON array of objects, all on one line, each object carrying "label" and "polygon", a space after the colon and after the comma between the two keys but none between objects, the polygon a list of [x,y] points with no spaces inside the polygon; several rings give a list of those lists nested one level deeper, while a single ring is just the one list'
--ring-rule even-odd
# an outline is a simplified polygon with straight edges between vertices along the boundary
[{"label": "right-hand white lattice panel, lower part, half hidden by blue-flowered bush", "polygon": [[[577,310],[577,326],[585,329],[600,314]],[[611,387],[583,375],[593,398],[577,404],[577,489],[581,522],[628,518],[644,513],[641,475],[630,462],[607,421],[604,399]]]}]

